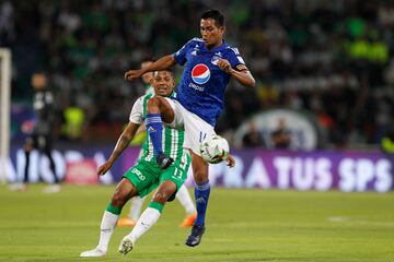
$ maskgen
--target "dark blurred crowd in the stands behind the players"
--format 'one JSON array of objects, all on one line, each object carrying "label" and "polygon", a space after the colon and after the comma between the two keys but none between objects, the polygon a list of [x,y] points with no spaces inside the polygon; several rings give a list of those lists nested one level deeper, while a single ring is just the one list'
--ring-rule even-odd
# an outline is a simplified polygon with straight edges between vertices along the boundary
[{"label": "dark blurred crowd in the stands behind the players", "polygon": [[31,103],[31,75],[44,71],[62,136],[113,140],[143,91],[124,72],[199,36],[198,14],[212,7],[257,81],[255,90],[230,85],[218,132],[277,107],[315,115],[336,146],[376,144],[393,124],[394,1],[2,1],[13,103]]}]

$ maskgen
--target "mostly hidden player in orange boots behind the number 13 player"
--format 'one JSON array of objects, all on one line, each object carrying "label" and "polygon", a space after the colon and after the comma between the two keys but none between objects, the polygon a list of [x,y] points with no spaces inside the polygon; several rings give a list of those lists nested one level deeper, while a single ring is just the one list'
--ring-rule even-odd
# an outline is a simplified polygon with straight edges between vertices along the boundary
[{"label": "mostly hidden player in orange boots behind the number 13 player", "polygon": [[[149,67],[153,62],[154,62],[153,59],[146,59],[140,64],[141,69]],[[152,82],[154,80],[153,72],[148,72],[148,73],[143,74],[141,78],[142,78],[142,82],[144,84],[144,94],[153,95],[154,94],[154,90],[152,86]],[[138,158],[140,158],[143,155],[143,144],[147,143],[147,140],[144,140],[146,138],[147,138],[147,131],[144,129],[144,124],[141,124],[135,135],[135,139],[131,141],[131,143],[141,144],[141,151],[140,151]],[[143,140],[143,143],[141,143],[141,140]],[[117,226],[134,227],[136,225],[136,222],[138,221],[138,217],[141,214],[142,205],[143,205],[143,202],[146,201],[146,199],[147,199],[147,195],[143,198],[140,198],[140,196],[132,198],[130,200],[130,210],[129,210],[127,216],[119,218]],[[184,221],[179,224],[179,227],[193,226],[193,224],[197,217],[197,211],[196,211],[196,206],[194,205],[194,201],[192,200],[186,186],[183,184],[179,188],[178,192],[176,193],[176,199],[179,201],[181,205],[184,207],[185,214],[186,214]]]}]

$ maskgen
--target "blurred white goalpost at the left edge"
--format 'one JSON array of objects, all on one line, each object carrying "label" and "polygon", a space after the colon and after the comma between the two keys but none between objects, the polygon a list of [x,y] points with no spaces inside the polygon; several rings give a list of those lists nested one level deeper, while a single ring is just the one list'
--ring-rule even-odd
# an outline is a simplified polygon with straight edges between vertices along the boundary
[{"label": "blurred white goalpost at the left edge", "polygon": [[11,50],[0,48],[0,182],[8,177],[10,156]]}]

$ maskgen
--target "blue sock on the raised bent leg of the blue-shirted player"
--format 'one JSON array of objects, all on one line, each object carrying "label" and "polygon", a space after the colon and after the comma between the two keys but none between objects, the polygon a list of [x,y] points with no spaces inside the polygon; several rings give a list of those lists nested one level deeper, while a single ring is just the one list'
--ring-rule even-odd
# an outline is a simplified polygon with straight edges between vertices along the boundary
[{"label": "blue sock on the raised bent leg of the blue-shirted player", "polygon": [[160,114],[147,114],[144,120],[149,138],[153,144],[154,156],[163,152],[162,148],[162,131],[163,123]]}]

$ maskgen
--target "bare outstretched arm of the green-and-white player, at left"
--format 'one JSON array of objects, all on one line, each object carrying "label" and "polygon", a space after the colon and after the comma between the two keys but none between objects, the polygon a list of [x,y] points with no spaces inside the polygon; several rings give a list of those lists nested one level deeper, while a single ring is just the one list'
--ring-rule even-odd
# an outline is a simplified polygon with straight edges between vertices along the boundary
[{"label": "bare outstretched arm of the green-and-white player, at left", "polygon": [[114,162],[118,158],[118,156],[124,152],[124,150],[130,144],[130,141],[136,135],[136,132],[139,128],[138,123],[129,122],[120,134],[113,153],[111,154],[108,160],[106,160],[103,165],[101,165],[97,169],[97,175],[103,176],[114,164]]}]

